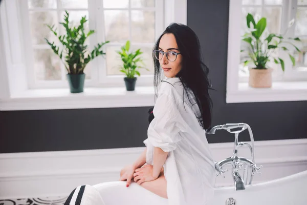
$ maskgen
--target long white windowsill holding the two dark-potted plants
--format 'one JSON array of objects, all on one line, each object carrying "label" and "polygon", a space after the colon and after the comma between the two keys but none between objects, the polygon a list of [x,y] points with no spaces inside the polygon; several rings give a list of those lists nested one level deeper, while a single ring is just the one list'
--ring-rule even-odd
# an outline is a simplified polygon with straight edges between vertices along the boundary
[{"label": "long white windowsill holding the two dark-potted plants", "polygon": [[0,99],[0,111],[84,108],[146,107],[155,104],[153,87],[84,88],[83,93],[67,89],[28,90],[10,99]]}]

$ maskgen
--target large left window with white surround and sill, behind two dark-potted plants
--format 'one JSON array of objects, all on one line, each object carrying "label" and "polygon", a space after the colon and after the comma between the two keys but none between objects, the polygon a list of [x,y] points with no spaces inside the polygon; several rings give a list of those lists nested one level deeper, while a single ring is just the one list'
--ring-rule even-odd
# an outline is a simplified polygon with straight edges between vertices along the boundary
[{"label": "large left window with white surround and sill, behind two dark-potted plants", "polygon": [[[116,2],[116,4],[115,4]],[[58,23],[68,10],[72,20],[88,15],[95,30],[89,47],[105,45],[107,55],[87,65],[84,93],[70,93],[66,70],[43,39],[54,38],[45,23]],[[125,18],[124,18],[125,17]],[[35,20],[36,19],[36,20]],[[187,24],[186,0],[5,0],[0,7],[0,111],[142,107],[154,104],[151,49],[167,25]],[[114,69],[126,40],[141,48],[147,67],[135,91],[126,91]],[[56,39],[54,39],[56,42]],[[60,46],[60,44],[58,44]]]}]

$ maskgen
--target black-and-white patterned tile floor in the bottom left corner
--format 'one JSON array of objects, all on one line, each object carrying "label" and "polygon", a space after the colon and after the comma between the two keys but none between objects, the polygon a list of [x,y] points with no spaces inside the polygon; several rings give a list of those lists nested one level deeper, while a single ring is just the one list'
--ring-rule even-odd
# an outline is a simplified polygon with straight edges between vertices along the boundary
[{"label": "black-and-white patterned tile floor in the bottom left corner", "polygon": [[0,205],[63,205],[66,197],[0,199]]}]

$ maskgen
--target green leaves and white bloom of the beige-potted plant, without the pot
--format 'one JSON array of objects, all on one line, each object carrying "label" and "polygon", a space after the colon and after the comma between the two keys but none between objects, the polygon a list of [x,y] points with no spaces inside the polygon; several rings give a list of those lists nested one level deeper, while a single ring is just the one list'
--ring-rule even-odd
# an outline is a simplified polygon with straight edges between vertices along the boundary
[{"label": "green leaves and white bloom of the beige-potted plant, without the pot", "polygon": [[[288,29],[293,25],[294,19],[289,22],[289,26],[286,32],[283,35],[277,35],[274,33],[268,33],[267,36],[261,36],[264,34],[265,29],[267,27],[267,19],[265,17],[261,17],[258,22],[255,22],[254,16],[251,13],[248,13],[246,16],[246,23],[248,27],[248,32],[243,35],[243,39],[248,43],[248,55],[247,59],[244,59],[244,66],[253,62],[256,66],[255,69],[267,69],[267,63],[270,60],[274,60],[274,63],[280,64],[282,71],[284,71],[284,60],[280,57],[272,57],[272,53],[275,49],[282,49],[284,51],[289,51],[286,45],[290,44],[294,46],[294,48],[300,52],[300,50],[293,44],[294,41],[300,41],[298,37],[296,38],[288,38],[284,39],[283,35],[286,34]],[[243,52],[245,50],[241,50]],[[293,66],[295,66],[294,57],[288,52],[288,55],[292,61]]]}]

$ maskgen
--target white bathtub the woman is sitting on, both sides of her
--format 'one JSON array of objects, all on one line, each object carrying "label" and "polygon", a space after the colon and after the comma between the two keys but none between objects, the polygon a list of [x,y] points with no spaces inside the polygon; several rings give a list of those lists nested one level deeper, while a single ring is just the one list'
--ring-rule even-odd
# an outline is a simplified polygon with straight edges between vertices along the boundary
[{"label": "white bathtub the woman is sitting on, both sides of her", "polygon": [[[124,181],[113,181],[94,187],[106,205],[167,205],[167,199],[145,190],[137,183],[131,183],[129,188],[125,185]],[[227,204],[229,198],[233,198],[236,205],[307,205],[307,171],[248,185],[242,191],[235,191],[234,187],[215,188],[212,205]]]}]

